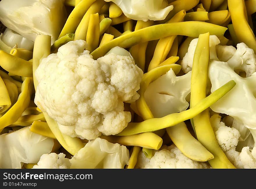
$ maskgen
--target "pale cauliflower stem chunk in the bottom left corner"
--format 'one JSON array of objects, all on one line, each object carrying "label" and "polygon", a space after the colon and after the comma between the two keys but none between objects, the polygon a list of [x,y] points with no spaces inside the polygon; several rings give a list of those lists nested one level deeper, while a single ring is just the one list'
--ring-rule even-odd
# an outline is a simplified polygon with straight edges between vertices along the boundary
[{"label": "pale cauliflower stem chunk in the bottom left corner", "polygon": [[37,163],[42,154],[51,152],[52,138],[33,133],[30,127],[0,135],[0,168],[21,168],[23,163]]}]

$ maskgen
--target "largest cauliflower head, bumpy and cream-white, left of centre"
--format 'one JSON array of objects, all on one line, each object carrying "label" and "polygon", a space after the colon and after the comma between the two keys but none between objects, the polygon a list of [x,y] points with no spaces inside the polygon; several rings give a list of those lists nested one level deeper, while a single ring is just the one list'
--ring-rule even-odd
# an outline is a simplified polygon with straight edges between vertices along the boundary
[{"label": "largest cauliflower head, bumpy and cream-white, left of centre", "polygon": [[123,102],[139,98],[143,71],[131,56],[115,51],[93,60],[86,46],[83,40],[68,42],[40,62],[35,104],[62,133],[92,140],[115,135],[131,121]]}]

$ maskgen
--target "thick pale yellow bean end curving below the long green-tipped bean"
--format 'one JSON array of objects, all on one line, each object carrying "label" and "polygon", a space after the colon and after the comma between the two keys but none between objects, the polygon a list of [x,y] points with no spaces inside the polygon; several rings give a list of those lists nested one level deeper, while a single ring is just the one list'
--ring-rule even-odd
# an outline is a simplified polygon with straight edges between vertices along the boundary
[{"label": "thick pale yellow bean end curving below the long green-tipped bean", "polygon": [[166,128],[168,135],[179,150],[195,161],[208,161],[214,156],[189,132],[186,124],[181,122]]}]

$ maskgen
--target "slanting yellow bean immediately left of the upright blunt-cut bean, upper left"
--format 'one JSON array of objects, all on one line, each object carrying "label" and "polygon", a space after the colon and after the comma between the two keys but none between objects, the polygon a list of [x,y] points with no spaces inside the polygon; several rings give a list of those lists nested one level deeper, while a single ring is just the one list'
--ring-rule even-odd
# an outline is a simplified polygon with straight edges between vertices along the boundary
[{"label": "slanting yellow bean immediately left of the upright blunt-cut bean, upper left", "polygon": [[99,10],[103,7],[103,5],[106,3],[104,0],[96,0],[90,8],[86,11],[85,15],[83,16],[83,19],[77,26],[77,29],[75,31],[74,40],[83,39],[86,40],[87,36],[87,30],[90,20],[91,14],[96,14],[99,12]]}]

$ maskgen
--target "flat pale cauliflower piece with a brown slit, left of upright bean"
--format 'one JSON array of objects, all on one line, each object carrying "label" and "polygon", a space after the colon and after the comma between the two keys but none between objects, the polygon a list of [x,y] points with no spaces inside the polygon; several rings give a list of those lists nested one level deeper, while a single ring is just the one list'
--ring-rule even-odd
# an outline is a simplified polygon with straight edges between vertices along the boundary
[{"label": "flat pale cauliflower piece with a brown slit, left of upright bean", "polygon": [[170,69],[149,84],[144,97],[154,117],[160,118],[189,107],[186,97],[190,93],[191,73],[190,71],[182,76],[176,76]]}]

